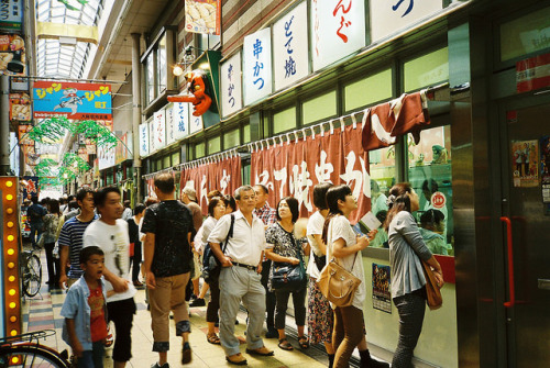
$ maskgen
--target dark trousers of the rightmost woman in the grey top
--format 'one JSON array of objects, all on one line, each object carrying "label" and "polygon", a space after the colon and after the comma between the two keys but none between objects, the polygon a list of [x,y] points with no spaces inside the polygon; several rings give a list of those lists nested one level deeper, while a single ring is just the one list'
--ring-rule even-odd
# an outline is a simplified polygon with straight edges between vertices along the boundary
[{"label": "dark trousers of the rightmost woman in the grey top", "polygon": [[393,368],[413,367],[413,352],[422,331],[426,298],[413,292],[394,298],[394,304],[399,313],[399,342],[392,360]]}]

